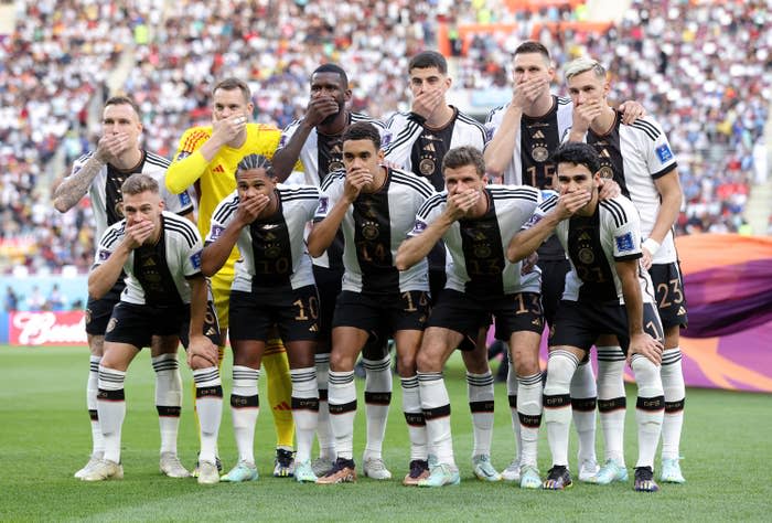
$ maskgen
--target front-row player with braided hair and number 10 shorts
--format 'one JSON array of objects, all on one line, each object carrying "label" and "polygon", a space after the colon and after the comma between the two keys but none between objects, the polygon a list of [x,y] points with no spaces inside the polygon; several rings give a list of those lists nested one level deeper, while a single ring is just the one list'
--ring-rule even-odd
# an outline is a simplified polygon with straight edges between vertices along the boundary
[{"label": "front-row player with braided hair and number 10 shorts", "polygon": [[238,245],[242,256],[235,267],[229,312],[234,353],[230,407],[238,463],[223,476],[223,481],[257,479],[257,381],[266,341],[275,325],[287,345],[292,380],[292,417],[298,437],[294,478],[300,482],[317,480],[311,469],[311,444],[319,413],[313,361],[319,297],[303,231],[318,204],[317,188],[277,186],[268,159],[248,154],[236,168],[236,191],[212,215],[202,256],[203,273],[208,276],[219,270],[234,245]]}]

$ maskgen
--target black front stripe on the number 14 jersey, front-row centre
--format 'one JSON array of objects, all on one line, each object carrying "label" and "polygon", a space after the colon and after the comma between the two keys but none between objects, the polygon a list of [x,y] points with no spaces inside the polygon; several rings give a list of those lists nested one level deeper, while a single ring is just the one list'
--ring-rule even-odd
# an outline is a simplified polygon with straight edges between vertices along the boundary
[{"label": "black front stripe on the number 14 jersey, front-row centre", "polygon": [[392,259],[390,177],[375,193],[360,193],[352,205],[354,247],[362,269],[363,292],[398,292],[399,271]]}]

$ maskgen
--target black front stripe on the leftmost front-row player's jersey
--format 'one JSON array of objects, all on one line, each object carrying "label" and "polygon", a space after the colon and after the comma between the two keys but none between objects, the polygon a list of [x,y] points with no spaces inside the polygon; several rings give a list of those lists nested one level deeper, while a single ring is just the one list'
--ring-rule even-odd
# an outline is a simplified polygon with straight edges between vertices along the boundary
[{"label": "black front stripe on the leftmost front-row player's jersey", "polygon": [[165,216],[161,215],[161,236],[154,245],[135,249],[133,274],[144,291],[144,302],[151,306],[182,307],[174,277],[167,263]]}]

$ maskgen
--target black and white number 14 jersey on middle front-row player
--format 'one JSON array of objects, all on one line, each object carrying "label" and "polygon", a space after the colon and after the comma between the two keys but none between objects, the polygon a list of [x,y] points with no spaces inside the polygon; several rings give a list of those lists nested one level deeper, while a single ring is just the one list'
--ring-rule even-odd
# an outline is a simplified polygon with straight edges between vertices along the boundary
[{"label": "black and white number 14 jersey on middle front-row player", "polygon": [[[344,182],[344,171],[324,180],[314,221],[324,220],[340,201]],[[341,223],[345,241],[343,290],[368,293],[429,290],[426,259],[403,271],[394,264],[416,213],[433,193],[429,182],[398,169],[387,169],[386,182],[377,192],[360,193]]]}]

